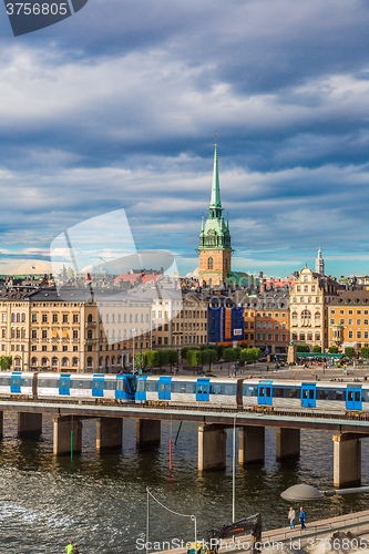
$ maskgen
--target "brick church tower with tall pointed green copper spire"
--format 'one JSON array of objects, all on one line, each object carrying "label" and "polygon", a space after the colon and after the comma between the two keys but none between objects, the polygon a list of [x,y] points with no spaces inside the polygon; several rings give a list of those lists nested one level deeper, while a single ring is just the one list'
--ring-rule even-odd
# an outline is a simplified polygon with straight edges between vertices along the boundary
[{"label": "brick church tower with tall pointed green copper spire", "polygon": [[211,205],[208,207],[208,218],[202,223],[199,235],[198,261],[199,261],[199,284],[203,281],[208,286],[217,286],[225,283],[230,271],[230,234],[228,222],[225,223],[221,203],[221,188],[218,175],[218,156],[214,151],[214,171]]}]

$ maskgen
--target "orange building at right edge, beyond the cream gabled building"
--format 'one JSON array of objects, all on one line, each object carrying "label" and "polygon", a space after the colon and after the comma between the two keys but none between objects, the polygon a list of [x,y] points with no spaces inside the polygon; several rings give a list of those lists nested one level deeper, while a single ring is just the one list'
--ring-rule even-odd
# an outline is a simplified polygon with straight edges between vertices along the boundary
[{"label": "orange building at right edge, beyond the cream gabled building", "polygon": [[352,287],[341,291],[328,305],[329,346],[360,348],[369,346],[369,290]]}]

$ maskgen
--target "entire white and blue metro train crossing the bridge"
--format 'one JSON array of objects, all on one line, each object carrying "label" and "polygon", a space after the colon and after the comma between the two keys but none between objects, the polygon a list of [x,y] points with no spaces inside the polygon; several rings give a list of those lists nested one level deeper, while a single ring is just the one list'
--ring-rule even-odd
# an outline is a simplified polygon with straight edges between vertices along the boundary
[{"label": "entire white and blue metro train crossing the bridge", "polygon": [[1,372],[0,397],[233,410],[369,413],[369,383],[182,376]]}]

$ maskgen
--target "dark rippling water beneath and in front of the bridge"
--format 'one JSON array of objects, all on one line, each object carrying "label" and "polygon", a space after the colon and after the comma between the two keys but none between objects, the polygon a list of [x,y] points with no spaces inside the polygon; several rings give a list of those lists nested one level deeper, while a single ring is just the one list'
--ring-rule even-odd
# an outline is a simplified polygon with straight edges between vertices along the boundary
[{"label": "dark rippling water beneath and in front of the bridge", "polygon": [[[162,444],[153,452],[135,445],[135,421],[124,421],[123,451],[98,454],[95,422],[83,422],[83,453],[52,455],[52,422],[43,419],[41,439],[17,437],[17,416],[4,416],[0,442],[0,553],[60,554],[73,540],[83,554],[130,554],[146,529],[146,486],[164,504],[196,514],[198,535],[232,520],[232,431],[227,470],[197,472],[196,424],[184,423],[168,469],[168,440],[177,423],[162,423]],[[362,482],[368,483],[368,440],[362,441]],[[262,512],[265,529],[287,525],[289,505],[280,492],[298,482],[332,488],[331,433],[301,431],[301,458],[275,460],[275,431],[266,430],[264,466],[236,470],[236,516]],[[346,495],[307,505],[309,520],[367,509],[368,495]],[[298,511],[298,505],[295,505]],[[150,538],[192,540],[189,519],[151,502]],[[140,545],[140,542],[139,542]],[[141,551],[142,552],[142,551]]]}]

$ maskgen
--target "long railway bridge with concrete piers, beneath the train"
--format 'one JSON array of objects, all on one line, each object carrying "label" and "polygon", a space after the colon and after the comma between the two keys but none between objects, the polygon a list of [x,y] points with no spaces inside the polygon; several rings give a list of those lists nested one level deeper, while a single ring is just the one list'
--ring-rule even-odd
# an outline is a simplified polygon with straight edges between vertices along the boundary
[{"label": "long railway bridge with concrete piers, beneath the train", "polygon": [[[102,403],[99,403],[102,402]],[[259,407],[260,408],[260,407]],[[136,420],[136,443],[146,449],[161,441],[161,421],[198,423],[198,470],[226,466],[226,429],[238,429],[238,463],[264,463],[265,428],[276,428],[276,458],[300,455],[300,430],[332,432],[334,484],[347,486],[361,481],[361,439],[369,437],[369,414],[365,412],[324,411],[317,409],[263,408],[260,411],[215,409],[161,404],[119,403],[104,400],[41,401],[22,398],[0,399],[0,435],[3,412],[18,413],[20,435],[42,432],[42,414],[53,417],[53,453],[70,454],[82,450],[82,422],[96,419],[96,449],[122,449],[123,420]]]}]

